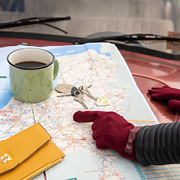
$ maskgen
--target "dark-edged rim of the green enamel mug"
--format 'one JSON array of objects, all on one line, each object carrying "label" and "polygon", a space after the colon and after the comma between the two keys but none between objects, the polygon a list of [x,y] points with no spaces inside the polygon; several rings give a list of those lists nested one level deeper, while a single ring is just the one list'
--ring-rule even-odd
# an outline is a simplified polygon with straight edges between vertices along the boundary
[{"label": "dark-edged rim of the green enamel mug", "polygon": [[[52,55],[52,61],[51,61],[49,64],[46,64],[46,65],[43,65],[43,66],[39,66],[39,67],[21,67],[21,66],[16,66],[15,64],[11,63],[10,60],[9,60],[9,56],[10,56],[12,53],[16,52],[16,51],[21,51],[21,50],[24,50],[24,49],[29,49],[29,50],[37,49],[37,50],[41,50],[41,51],[48,52],[49,54]],[[40,49],[40,48],[22,48],[22,49],[16,49],[16,50],[10,52],[10,53],[8,54],[8,56],[7,56],[7,61],[8,61],[8,63],[9,63],[11,66],[14,66],[15,68],[18,68],[18,69],[23,69],[23,70],[37,70],[37,69],[46,68],[46,67],[50,66],[51,64],[53,64],[54,61],[55,61],[55,56],[54,56],[51,52],[49,52],[49,51],[47,51],[47,50],[45,50],[45,49]]]}]

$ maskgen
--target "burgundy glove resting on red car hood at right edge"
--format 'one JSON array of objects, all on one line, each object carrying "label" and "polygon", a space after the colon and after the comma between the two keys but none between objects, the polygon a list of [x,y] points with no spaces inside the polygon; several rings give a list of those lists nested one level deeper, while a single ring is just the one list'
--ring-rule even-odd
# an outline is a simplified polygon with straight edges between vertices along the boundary
[{"label": "burgundy glove resting on red car hood at right edge", "polygon": [[160,88],[154,87],[148,92],[152,99],[167,100],[170,110],[180,112],[180,89],[163,86]]}]

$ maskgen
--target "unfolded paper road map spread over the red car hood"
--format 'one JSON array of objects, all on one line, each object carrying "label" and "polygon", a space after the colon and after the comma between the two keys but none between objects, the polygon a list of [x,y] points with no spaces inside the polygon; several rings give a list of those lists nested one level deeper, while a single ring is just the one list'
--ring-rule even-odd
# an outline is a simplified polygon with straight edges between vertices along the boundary
[{"label": "unfolded paper road map spread over the red car hood", "polygon": [[[110,104],[97,106],[85,96],[83,101],[88,110],[114,111],[138,126],[157,123],[118,49],[110,43],[43,47],[59,61],[54,90],[43,102],[24,103],[11,95],[6,58],[11,51],[27,47],[0,48],[0,140],[39,122],[66,155],[61,163],[45,172],[47,180],[147,179],[138,163],[113,150],[98,149],[92,138],[92,123],[73,121],[73,114],[84,111],[83,106],[71,96],[57,97],[55,90],[60,83],[76,87],[92,85],[91,94],[106,97]],[[34,180],[44,180],[44,174]]]}]

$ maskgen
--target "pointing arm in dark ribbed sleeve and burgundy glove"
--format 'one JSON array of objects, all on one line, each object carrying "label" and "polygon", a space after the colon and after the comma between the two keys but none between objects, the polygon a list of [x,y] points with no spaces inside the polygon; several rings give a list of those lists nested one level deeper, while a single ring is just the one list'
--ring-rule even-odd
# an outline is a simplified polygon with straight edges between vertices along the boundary
[{"label": "pointing arm in dark ribbed sleeve and burgundy glove", "polygon": [[100,149],[113,149],[142,165],[180,163],[180,122],[135,127],[115,112],[77,111],[76,122],[93,122],[93,139]]}]

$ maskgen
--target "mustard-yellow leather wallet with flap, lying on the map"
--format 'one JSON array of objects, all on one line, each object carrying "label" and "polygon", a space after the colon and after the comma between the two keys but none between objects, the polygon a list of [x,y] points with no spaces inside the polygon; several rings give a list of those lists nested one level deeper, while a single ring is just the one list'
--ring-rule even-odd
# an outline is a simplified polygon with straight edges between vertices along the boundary
[{"label": "mustard-yellow leather wallet with flap, lying on the map", "polygon": [[0,180],[31,179],[64,156],[47,131],[37,123],[0,141]]}]

